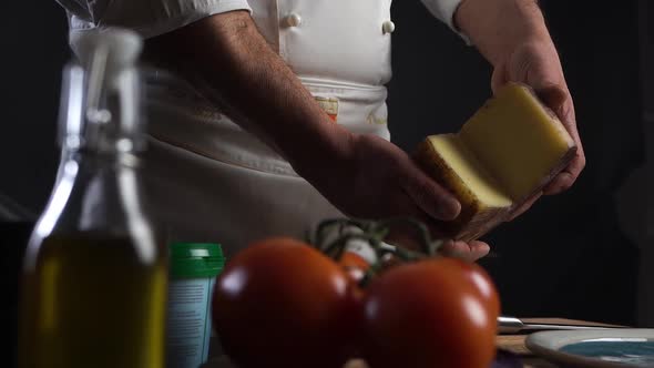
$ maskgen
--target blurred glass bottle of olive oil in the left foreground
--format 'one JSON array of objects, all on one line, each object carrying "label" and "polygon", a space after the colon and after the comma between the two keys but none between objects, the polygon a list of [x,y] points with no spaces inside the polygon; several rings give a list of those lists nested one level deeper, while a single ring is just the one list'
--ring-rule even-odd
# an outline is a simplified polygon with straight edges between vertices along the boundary
[{"label": "blurred glass bottle of olive oil in the left foreground", "polygon": [[23,265],[20,367],[164,367],[166,247],[143,198],[137,35],[88,33],[64,70],[62,160]]}]

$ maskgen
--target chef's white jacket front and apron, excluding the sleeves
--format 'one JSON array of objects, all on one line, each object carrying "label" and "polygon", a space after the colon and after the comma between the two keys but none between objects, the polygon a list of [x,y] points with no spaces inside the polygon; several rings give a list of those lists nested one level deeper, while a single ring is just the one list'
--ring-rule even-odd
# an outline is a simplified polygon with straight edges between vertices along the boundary
[{"label": "chef's white jacket front and apron, excluding the sleeves", "polygon": [[[389,139],[391,0],[251,0],[262,34],[338,124]],[[168,241],[227,256],[273,235],[304,237],[341,214],[290,165],[184,81],[147,81],[147,195]],[[347,183],[347,178],[344,178]]]}]

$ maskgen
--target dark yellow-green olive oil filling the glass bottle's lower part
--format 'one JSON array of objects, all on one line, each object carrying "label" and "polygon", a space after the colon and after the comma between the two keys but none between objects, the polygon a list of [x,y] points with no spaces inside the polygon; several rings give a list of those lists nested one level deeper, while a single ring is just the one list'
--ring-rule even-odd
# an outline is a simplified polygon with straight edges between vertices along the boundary
[{"label": "dark yellow-green olive oil filling the glass bottle's lower part", "polygon": [[52,235],[41,249],[24,276],[24,366],[163,367],[163,257],[144,265],[108,233]]}]

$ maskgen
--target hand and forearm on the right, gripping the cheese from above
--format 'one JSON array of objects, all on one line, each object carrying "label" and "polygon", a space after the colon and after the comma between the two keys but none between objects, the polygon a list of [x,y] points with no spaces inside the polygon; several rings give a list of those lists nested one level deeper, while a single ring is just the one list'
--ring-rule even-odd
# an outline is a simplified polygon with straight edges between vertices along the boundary
[{"label": "hand and forearm on the right, gripping the cheese from above", "polygon": [[492,63],[493,91],[507,82],[530,85],[559,116],[578,146],[568,167],[542,193],[537,193],[518,208],[512,219],[531,207],[541,194],[558,194],[571,187],[585,166],[572,96],[543,14],[534,0],[463,0],[456,21]]}]

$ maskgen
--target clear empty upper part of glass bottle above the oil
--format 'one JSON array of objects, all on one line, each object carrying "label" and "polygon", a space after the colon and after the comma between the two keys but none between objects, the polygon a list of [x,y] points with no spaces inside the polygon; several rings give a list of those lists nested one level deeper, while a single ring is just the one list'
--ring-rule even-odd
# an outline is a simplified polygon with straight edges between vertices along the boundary
[{"label": "clear empty upper part of glass bottle above the oil", "polygon": [[147,214],[137,153],[144,150],[136,59],[141,39],[131,32],[84,32],[80,63],[67,65],[60,108],[61,162],[50,201],[27,253],[35,266],[49,236],[101,234],[130,239],[139,258],[160,253]]}]

